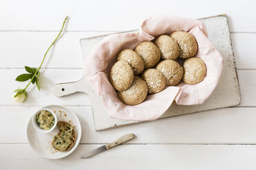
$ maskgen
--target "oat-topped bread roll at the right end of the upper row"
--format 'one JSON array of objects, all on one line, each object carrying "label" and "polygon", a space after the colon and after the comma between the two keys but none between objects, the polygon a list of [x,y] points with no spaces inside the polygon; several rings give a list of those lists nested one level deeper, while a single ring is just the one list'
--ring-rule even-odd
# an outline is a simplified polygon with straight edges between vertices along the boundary
[{"label": "oat-topped bread roll at the right end of the upper row", "polygon": [[188,32],[173,32],[171,33],[173,38],[180,46],[180,58],[190,58],[195,56],[198,51],[198,42]]}]

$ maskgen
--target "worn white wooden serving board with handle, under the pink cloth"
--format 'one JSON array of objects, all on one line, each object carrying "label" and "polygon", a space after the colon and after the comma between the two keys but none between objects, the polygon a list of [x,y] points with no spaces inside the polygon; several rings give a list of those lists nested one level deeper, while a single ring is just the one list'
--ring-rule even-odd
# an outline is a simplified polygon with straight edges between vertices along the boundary
[{"label": "worn white wooden serving board with handle, under the pink cloth", "polygon": [[[222,73],[222,77],[220,78],[219,84],[213,91],[213,94],[204,102],[204,104],[195,106],[178,106],[177,104],[172,104],[170,108],[162,114],[160,119],[180,114],[200,112],[202,110],[226,108],[229,106],[236,106],[240,103],[239,84],[235,69],[235,58],[233,56],[233,49],[231,46],[227,17],[226,15],[220,15],[199,20],[206,24],[209,39],[213,42],[213,45],[215,45],[224,58],[224,71]],[[138,32],[138,30],[130,32]],[[98,42],[100,42],[100,40],[105,36],[107,35],[81,39],[83,60],[87,58],[92,49],[94,49]],[[83,92],[89,95],[92,102],[96,130],[107,130],[112,127],[138,123],[136,121],[124,121],[109,117],[105,111],[102,99],[99,95],[94,93],[94,90],[89,86],[85,77],[77,82],[56,84],[53,89],[53,93],[57,97],[70,95],[76,92]]]}]

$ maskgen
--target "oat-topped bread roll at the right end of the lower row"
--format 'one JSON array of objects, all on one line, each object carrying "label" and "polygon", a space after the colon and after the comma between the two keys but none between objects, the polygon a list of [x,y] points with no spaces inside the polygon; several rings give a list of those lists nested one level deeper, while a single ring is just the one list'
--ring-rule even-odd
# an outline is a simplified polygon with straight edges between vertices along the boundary
[{"label": "oat-topped bread roll at the right end of the lower row", "polygon": [[201,58],[189,58],[183,64],[183,82],[186,84],[198,84],[204,80],[206,66]]}]

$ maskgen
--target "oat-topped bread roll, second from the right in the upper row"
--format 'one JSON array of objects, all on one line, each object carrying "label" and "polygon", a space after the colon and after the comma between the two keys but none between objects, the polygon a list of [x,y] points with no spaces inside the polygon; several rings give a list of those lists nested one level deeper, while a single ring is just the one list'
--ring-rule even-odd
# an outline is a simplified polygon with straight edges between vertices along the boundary
[{"label": "oat-topped bread roll, second from the right in the upper row", "polygon": [[176,60],[180,54],[180,47],[173,38],[162,35],[155,40],[155,44],[161,51],[162,59]]}]

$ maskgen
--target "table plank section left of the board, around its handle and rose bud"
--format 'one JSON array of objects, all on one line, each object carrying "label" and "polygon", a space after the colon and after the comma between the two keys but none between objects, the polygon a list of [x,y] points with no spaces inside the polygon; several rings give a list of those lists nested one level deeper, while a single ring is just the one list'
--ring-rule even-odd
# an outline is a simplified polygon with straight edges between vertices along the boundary
[{"label": "table plank section left of the board, around its handle and rose bud", "polygon": [[75,81],[83,77],[81,69],[70,70],[42,70],[39,80],[41,91],[37,90],[36,86],[28,87],[28,101],[25,104],[18,104],[12,98],[12,91],[17,88],[25,88],[28,82],[17,82],[16,77],[25,71],[20,69],[1,69],[0,80],[2,82],[0,89],[0,106],[32,106],[32,105],[48,105],[48,104],[63,104],[63,105],[90,105],[89,98],[83,93],[76,93],[66,97],[55,97],[52,93],[54,84],[58,82]]}]

